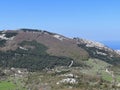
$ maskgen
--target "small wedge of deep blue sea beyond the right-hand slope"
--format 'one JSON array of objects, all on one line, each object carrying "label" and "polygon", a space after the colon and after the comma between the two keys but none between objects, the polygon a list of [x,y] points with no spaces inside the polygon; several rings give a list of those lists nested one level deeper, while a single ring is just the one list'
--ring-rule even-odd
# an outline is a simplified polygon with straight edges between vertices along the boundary
[{"label": "small wedge of deep blue sea beyond the right-hand slope", "polygon": [[102,43],[112,49],[120,50],[120,41],[103,41]]}]

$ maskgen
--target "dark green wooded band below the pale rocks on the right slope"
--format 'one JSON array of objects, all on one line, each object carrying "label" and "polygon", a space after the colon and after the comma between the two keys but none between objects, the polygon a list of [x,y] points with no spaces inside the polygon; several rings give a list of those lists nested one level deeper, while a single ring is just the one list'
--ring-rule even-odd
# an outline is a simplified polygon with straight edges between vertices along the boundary
[{"label": "dark green wooded band below the pale rocks on the right slope", "polygon": [[[119,65],[120,63],[120,57],[115,56],[114,53],[111,54],[111,52],[96,47],[86,47],[85,44],[78,44],[78,46],[86,50],[89,53],[90,58],[97,58],[112,65]],[[98,54],[97,52],[103,53],[103,55]]]}]

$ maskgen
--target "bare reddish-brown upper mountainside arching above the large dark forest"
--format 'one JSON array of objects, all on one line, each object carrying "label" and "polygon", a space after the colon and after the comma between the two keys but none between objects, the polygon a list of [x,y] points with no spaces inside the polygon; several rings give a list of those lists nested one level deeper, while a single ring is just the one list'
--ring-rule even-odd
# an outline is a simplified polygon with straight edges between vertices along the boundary
[{"label": "bare reddish-brown upper mountainside arching above the large dark forest", "polygon": [[38,43],[42,43],[48,47],[47,52],[51,55],[69,56],[71,58],[73,58],[75,55],[80,59],[88,55],[85,50],[78,48],[76,42],[74,42],[72,39],[66,38],[59,34],[49,33],[47,31],[31,31],[29,29],[28,31],[25,31],[25,29],[11,31],[11,33],[13,32],[16,32],[17,35],[13,40],[9,40],[5,47],[2,47],[1,50],[15,50],[19,47],[18,44],[22,41],[35,40]]}]

